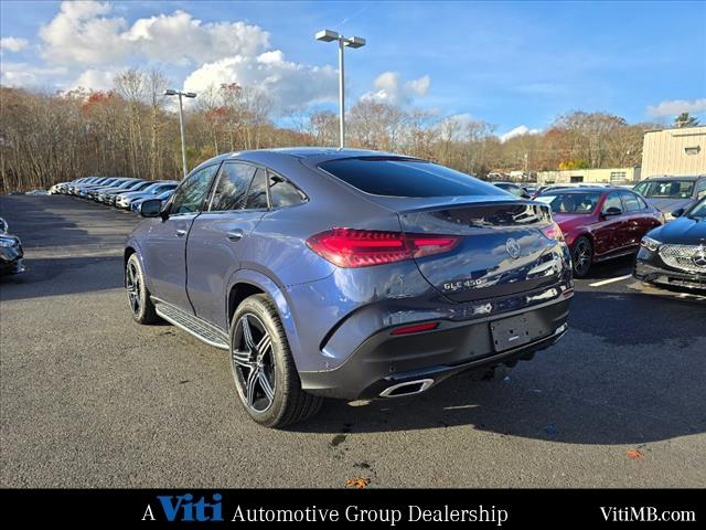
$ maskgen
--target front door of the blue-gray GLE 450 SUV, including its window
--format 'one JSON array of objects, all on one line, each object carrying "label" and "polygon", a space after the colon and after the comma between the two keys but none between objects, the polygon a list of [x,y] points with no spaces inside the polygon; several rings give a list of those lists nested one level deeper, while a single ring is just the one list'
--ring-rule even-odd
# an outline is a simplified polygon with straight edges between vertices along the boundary
[{"label": "front door of the blue-gray GLE 450 SUV, including its window", "polygon": [[169,215],[156,219],[142,253],[152,295],[193,312],[186,296],[186,239],[201,212],[218,163],[192,172],[167,205]]}]

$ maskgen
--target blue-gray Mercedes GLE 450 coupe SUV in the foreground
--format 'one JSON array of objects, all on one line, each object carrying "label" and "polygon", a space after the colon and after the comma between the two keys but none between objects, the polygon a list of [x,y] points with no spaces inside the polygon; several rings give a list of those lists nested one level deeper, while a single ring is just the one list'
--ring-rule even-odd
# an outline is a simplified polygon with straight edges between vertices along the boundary
[{"label": "blue-gray Mercedes GLE 450 coupe SUV in the foreground", "polygon": [[570,259],[546,204],[353,149],[213,158],[125,250],[129,308],[227,350],[258,423],[393,399],[531,359],[567,329]]}]

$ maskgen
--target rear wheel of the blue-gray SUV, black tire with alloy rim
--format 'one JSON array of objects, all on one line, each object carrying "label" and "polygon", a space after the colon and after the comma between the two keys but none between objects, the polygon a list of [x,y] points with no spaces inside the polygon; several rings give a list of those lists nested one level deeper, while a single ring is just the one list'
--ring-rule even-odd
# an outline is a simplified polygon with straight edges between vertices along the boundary
[{"label": "rear wheel of the blue-gray SUV, black tire with alloy rim", "polygon": [[240,404],[260,425],[281,428],[321,407],[320,396],[301,390],[277,308],[266,295],[246,298],[233,316],[231,368]]}]

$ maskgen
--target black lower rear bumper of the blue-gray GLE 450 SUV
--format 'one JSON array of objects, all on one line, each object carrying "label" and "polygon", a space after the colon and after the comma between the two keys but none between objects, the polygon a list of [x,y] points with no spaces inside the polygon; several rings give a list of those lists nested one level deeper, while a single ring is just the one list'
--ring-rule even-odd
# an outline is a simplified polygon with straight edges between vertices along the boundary
[{"label": "black lower rear bumper of the blue-gray GLE 450 SUV", "polygon": [[[434,331],[408,336],[392,336],[388,328],[365,340],[341,367],[300,372],[302,388],[327,398],[373,399],[385,389],[407,381],[431,380],[431,384],[437,384],[467,370],[486,370],[530,359],[564,336],[569,304],[570,298],[561,298],[484,319],[442,321]],[[518,315],[526,316],[542,329],[538,338],[517,348],[496,351],[491,322]]]}]

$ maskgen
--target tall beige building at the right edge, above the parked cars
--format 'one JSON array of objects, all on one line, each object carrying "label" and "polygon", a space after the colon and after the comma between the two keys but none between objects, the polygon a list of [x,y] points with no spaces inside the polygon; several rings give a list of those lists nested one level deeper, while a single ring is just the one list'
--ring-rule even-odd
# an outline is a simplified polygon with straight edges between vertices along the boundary
[{"label": "tall beige building at the right edge, above the parked cars", "polygon": [[642,145],[642,177],[706,174],[706,127],[649,130]]}]

